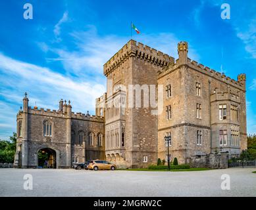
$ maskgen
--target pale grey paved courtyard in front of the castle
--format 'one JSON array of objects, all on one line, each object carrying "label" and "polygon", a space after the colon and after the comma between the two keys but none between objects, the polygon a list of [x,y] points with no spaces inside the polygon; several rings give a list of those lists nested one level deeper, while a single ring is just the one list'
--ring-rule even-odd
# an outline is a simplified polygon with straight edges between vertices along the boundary
[{"label": "pale grey paved courtyard in front of the castle", "polygon": [[[256,196],[256,168],[211,171],[0,169],[0,196]],[[24,190],[24,175],[33,190]],[[230,190],[221,176],[230,175]]]}]

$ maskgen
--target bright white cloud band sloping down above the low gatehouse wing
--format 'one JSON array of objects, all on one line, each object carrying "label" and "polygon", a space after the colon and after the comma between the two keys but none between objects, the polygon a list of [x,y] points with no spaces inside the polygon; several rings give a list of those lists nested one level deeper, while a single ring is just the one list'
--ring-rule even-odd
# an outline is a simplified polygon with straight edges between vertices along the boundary
[{"label": "bright white cloud band sloping down above the low gatehouse wing", "polygon": [[6,131],[4,128],[16,130],[16,113],[22,105],[25,91],[28,92],[30,106],[37,102],[39,108],[57,110],[59,100],[63,98],[71,100],[74,112],[90,110],[91,114],[95,110],[95,98],[105,92],[105,85],[86,81],[86,78],[82,81],[65,77],[49,68],[14,60],[1,53],[0,75],[0,96],[4,98],[0,102],[1,136]]}]

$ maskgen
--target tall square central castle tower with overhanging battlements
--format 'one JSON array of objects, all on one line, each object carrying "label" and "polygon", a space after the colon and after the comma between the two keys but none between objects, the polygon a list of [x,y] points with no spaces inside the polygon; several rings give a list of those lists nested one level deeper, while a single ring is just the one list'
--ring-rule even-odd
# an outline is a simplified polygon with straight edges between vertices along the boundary
[{"label": "tall square central castle tower with overhanging battlements", "polygon": [[104,65],[106,156],[119,167],[157,161],[157,116],[151,112],[157,108],[145,98],[157,89],[157,72],[170,63],[174,58],[130,40]]}]

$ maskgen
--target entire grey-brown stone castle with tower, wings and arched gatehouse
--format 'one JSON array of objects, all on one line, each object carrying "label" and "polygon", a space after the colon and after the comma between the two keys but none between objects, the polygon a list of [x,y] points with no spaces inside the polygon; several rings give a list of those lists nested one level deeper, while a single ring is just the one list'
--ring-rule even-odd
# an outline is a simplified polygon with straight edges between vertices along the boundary
[{"label": "entire grey-brown stone castle with tower, wings and arched gatehouse", "polygon": [[147,167],[158,158],[193,165],[247,148],[245,74],[236,81],[198,64],[188,58],[188,43],[178,43],[175,60],[130,40],[103,72],[107,93],[95,100],[95,116],[74,114],[63,100],[59,110],[31,108],[25,95],[15,167],[38,167],[39,151],[51,154],[55,168],[90,159]]}]

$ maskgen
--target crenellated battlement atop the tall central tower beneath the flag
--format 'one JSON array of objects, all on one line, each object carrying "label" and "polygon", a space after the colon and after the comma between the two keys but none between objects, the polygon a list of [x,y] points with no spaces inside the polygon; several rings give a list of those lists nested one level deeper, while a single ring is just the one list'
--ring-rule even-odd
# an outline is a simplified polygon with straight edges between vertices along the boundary
[{"label": "crenellated battlement atop the tall central tower beneath the flag", "polygon": [[167,66],[170,62],[174,62],[174,58],[172,56],[131,39],[104,64],[104,75],[111,74],[113,70],[132,56],[144,59],[147,62],[151,62],[153,65],[161,67]]}]

